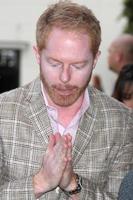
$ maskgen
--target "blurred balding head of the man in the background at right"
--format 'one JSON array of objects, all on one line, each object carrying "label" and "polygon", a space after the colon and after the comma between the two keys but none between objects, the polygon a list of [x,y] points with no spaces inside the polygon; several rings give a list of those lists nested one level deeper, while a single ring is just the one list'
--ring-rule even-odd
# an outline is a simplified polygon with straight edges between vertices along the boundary
[{"label": "blurred balding head of the man in the background at right", "polygon": [[109,68],[119,73],[126,64],[133,63],[133,35],[123,34],[116,38],[109,47]]}]

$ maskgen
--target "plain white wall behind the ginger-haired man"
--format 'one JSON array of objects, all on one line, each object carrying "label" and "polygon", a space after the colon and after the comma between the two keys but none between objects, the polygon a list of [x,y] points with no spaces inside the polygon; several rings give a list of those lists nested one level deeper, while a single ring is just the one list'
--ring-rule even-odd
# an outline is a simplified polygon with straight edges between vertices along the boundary
[{"label": "plain white wall behind the ginger-haired man", "polygon": [[[39,73],[32,49],[35,44],[36,21],[47,5],[53,2],[56,1],[0,0],[0,41],[25,41],[29,44],[22,50],[21,85],[31,81]],[[102,77],[104,89],[110,94],[115,75],[107,67],[107,51],[110,42],[121,34],[125,22],[118,20],[122,9],[122,0],[75,0],[74,2],[87,5],[101,22],[102,54],[94,73],[98,73]]]}]

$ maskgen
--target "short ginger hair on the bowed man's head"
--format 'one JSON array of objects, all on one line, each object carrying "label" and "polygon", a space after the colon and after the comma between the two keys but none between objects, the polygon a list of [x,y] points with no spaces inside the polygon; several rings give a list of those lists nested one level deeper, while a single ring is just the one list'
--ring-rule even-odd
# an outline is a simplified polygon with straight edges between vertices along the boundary
[{"label": "short ginger hair on the bowed man's head", "polygon": [[46,48],[47,39],[54,27],[88,34],[93,55],[98,52],[101,43],[100,23],[86,6],[67,0],[50,5],[37,21],[36,42],[39,51]]}]

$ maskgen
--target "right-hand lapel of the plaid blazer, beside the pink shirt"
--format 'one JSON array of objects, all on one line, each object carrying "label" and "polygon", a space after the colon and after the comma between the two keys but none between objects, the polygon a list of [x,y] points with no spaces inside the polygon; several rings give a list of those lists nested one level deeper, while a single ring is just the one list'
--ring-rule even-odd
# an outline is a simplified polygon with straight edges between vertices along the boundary
[{"label": "right-hand lapel of the plaid blazer, beside the pink shirt", "polygon": [[91,141],[92,135],[94,134],[98,106],[96,105],[95,98],[91,96],[91,91],[89,91],[89,97],[90,106],[81,118],[73,146],[73,166],[75,166],[80,160],[84,150]]}]

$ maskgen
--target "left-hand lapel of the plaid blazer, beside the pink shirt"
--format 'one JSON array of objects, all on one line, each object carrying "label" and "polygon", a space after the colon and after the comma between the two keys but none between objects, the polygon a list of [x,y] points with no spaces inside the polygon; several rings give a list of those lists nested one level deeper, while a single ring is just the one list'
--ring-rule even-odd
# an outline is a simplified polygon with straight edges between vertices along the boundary
[{"label": "left-hand lapel of the plaid blazer, beside the pink shirt", "polygon": [[[32,95],[30,95],[32,94]],[[30,119],[35,133],[42,144],[48,143],[49,135],[52,134],[52,127],[48,118],[46,105],[41,92],[40,81],[36,82],[33,91],[27,97],[26,114]]]}]

